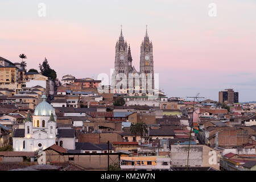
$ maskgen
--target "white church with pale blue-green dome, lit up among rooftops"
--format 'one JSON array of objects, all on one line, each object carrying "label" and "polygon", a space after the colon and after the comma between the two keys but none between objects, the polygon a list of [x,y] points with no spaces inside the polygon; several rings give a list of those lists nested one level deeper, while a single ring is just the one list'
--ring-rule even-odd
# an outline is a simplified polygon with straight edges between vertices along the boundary
[{"label": "white church with pale blue-green dome, lit up among rooftops", "polygon": [[[24,129],[14,130],[14,151],[44,150],[56,144],[59,137],[56,127],[56,114],[54,108],[46,102],[46,99],[47,97],[43,94],[42,102],[36,106],[32,119],[30,113],[28,113]],[[75,146],[75,140],[71,141],[73,141],[71,146]],[[62,145],[63,143],[60,146]],[[75,147],[68,147],[68,149],[75,149]]]}]

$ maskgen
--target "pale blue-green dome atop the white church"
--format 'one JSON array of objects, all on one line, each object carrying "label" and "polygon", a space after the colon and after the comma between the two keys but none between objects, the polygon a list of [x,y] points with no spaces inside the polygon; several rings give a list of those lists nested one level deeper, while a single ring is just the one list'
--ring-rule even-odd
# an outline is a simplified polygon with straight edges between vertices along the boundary
[{"label": "pale blue-green dome atop the white church", "polygon": [[36,109],[34,111],[34,115],[51,115],[51,113],[53,115],[55,115],[55,110],[53,109],[53,107],[46,102],[47,97],[43,94],[42,96],[42,102],[36,106]]}]

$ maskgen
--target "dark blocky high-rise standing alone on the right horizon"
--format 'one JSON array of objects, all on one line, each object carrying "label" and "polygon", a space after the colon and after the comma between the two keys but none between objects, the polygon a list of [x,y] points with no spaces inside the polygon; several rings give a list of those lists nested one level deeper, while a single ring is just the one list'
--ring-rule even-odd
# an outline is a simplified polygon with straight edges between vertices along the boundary
[{"label": "dark blocky high-rise standing alone on the right horizon", "polygon": [[218,92],[218,102],[226,104],[234,104],[238,102],[238,92],[233,89],[225,89]]}]

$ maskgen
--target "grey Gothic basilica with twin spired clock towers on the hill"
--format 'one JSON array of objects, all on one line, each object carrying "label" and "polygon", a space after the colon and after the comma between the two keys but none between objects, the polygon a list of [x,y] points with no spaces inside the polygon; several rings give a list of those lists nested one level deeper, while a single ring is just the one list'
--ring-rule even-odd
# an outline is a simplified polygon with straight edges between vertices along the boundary
[{"label": "grey Gothic basilica with twin spired clock towers on the hill", "polygon": [[[147,95],[154,90],[153,46],[147,35],[141,43],[139,72],[133,66],[130,45],[127,45],[121,29],[121,35],[115,44],[115,93]],[[126,81],[125,81],[126,80]],[[151,93],[152,94],[152,93]]]}]

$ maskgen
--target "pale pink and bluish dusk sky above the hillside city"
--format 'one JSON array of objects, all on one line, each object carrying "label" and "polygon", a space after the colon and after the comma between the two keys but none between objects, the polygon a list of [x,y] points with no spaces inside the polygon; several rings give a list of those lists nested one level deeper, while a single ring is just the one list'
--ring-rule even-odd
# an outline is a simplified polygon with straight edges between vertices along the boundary
[{"label": "pale pink and bluish dusk sky above the hillside city", "polygon": [[250,23],[256,17],[255,2],[216,1],[216,17],[208,15],[210,1],[195,5],[142,1],[136,6],[135,1],[114,2],[110,6],[107,2],[44,1],[46,17],[39,17],[39,1],[2,1],[1,56],[20,62],[18,55],[25,53],[27,69],[38,70],[47,57],[58,78],[67,74],[97,78],[100,73],[110,75],[114,68],[120,24],[133,64],[139,67],[147,24],[159,87],[168,97],[200,93],[217,101],[218,91],[233,88],[240,102],[256,100],[256,27]]}]

